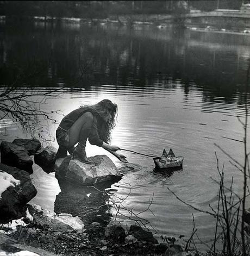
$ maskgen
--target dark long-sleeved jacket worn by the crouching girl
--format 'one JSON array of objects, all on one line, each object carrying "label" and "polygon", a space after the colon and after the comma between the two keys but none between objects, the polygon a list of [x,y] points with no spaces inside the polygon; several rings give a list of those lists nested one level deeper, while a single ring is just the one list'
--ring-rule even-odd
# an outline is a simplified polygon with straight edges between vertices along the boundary
[{"label": "dark long-sleeved jacket worn by the crouching girl", "polygon": [[84,113],[90,112],[93,115],[92,127],[91,132],[89,134],[89,142],[92,145],[96,145],[101,147],[103,145],[103,140],[99,138],[97,123],[100,120],[101,116],[95,109],[91,109],[89,107],[79,108],[71,111],[71,113],[67,114],[64,118],[62,118],[59,127],[65,131],[71,128],[74,122],[82,116]]}]

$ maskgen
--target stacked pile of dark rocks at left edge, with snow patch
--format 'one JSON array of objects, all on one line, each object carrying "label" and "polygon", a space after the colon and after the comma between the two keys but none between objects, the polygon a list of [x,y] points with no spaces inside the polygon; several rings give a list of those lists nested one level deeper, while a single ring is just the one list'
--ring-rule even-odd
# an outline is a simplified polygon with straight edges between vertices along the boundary
[{"label": "stacked pile of dark rocks at left edge, with snow patch", "polygon": [[21,218],[27,210],[27,203],[37,191],[29,174],[33,173],[30,155],[41,148],[38,140],[16,139],[2,141],[0,145],[0,223]]}]

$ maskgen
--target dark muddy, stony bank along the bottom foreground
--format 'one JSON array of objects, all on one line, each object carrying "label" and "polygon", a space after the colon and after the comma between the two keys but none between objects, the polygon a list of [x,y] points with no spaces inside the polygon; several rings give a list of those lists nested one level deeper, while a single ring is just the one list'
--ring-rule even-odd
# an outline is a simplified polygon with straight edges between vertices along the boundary
[{"label": "dark muddy, stony bank along the bottom foreground", "polygon": [[[158,244],[151,232],[139,226],[125,230],[119,223],[111,222],[108,225],[104,216],[99,216],[98,220],[85,222],[82,232],[57,230],[55,227],[42,226],[41,222],[31,221],[25,227],[17,227],[15,231],[5,229],[10,240],[1,242],[0,249],[6,252],[26,249],[35,253],[39,253],[36,249],[42,249],[52,253],[41,251],[38,255],[174,255],[183,252],[178,245]],[[18,245],[21,247],[18,248]]]}]

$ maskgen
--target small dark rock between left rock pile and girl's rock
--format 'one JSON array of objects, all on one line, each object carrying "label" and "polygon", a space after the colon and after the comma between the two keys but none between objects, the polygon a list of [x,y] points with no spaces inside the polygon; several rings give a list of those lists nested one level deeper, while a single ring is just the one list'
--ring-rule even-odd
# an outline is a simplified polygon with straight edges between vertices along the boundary
[{"label": "small dark rock between left rock pile and girl's rock", "polygon": [[34,155],[35,164],[39,165],[43,171],[50,173],[54,172],[55,155],[57,149],[52,146],[47,146],[36,152]]}]

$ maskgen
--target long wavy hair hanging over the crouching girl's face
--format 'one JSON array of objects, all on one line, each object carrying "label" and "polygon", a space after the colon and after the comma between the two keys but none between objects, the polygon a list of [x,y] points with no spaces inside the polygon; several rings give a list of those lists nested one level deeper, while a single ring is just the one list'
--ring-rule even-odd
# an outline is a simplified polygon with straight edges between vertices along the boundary
[{"label": "long wavy hair hanging over the crouching girl's face", "polygon": [[[117,115],[117,105],[112,103],[109,99],[103,99],[102,101],[98,102],[95,105],[84,105],[80,106],[89,107],[95,109],[99,114],[98,122],[97,122],[97,129],[99,133],[99,137],[104,142],[108,143],[111,140],[111,130],[115,127],[115,117]],[[109,115],[111,117],[108,121],[105,118]]]}]

